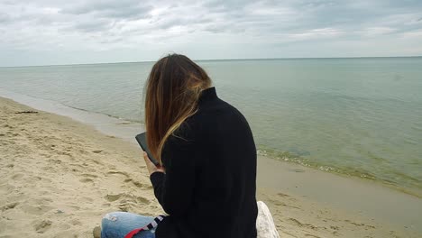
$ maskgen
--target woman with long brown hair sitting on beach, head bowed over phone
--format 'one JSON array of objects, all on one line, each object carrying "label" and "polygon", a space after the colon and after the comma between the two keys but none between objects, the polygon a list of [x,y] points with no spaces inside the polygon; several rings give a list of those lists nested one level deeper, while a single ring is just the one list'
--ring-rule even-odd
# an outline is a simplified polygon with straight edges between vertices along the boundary
[{"label": "woman with long brown hair sitting on beach, head bowed over phone", "polygon": [[[218,98],[211,79],[188,57],[171,54],[151,70],[146,87],[151,183],[168,214],[133,237],[256,237],[256,149],[243,114]],[[102,237],[124,237],[153,217],[105,215]]]}]

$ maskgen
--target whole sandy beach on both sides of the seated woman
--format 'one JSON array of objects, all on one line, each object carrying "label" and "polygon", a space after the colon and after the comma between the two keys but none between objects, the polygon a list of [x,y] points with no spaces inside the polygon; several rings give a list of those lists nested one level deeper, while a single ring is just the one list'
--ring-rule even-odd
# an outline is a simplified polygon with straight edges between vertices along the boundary
[{"label": "whole sandy beach on both sides of the seated woman", "polygon": [[[0,237],[93,237],[108,212],[161,215],[140,148],[0,97]],[[259,158],[281,237],[422,237],[422,202],[361,179]]]}]

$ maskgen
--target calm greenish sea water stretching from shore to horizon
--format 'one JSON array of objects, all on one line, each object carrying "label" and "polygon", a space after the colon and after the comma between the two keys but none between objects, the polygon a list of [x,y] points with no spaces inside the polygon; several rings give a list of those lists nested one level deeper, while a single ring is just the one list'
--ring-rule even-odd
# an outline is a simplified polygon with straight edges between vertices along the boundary
[{"label": "calm greenish sea water stretching from shore to horizon", "polygon": [[[197,63],[245,115],[258,153],[422,196],[422,58]],[[0,68],[0,88],[142,123],[152,64]]]}]

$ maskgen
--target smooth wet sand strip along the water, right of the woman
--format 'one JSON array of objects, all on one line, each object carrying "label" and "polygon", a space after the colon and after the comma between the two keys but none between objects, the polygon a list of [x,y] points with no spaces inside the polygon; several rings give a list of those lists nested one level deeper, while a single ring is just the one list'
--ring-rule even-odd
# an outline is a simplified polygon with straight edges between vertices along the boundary
[{"label": "smooth wet sand strip along the water, right of the woman", "polygon": [[257,183],[261,188],[283,191],[398,229],[401,226],[422,233],[422,199],[371,180],[259,157]]}]

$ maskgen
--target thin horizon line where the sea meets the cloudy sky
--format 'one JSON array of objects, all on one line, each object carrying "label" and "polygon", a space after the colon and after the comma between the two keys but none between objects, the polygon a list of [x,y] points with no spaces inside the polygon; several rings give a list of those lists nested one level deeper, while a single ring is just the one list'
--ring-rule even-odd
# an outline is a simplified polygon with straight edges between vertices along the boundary
[{"label": "thin horizon line where the sea meets the cloudy sky", "polygon": [[[192,59],[193,61],[229,61],[229,60],[265,60],[265,59],[373,59],[373,58],[419,58],[422,55],[414,56],[354,56],[354,57],[291,57],[291,58],[233,58],[233,59]],[[49,67],[49,66],[82,66],[99,64],[133,64],[133,63],[151,63],[157,60],[142,61],[120,61],[120,62],[97,62],[97,63],[70,63],[70,64],[50,64],[50,65],[22,65],[22,66],[0,66],[1,68],[25,68],[25,67]]]}]

